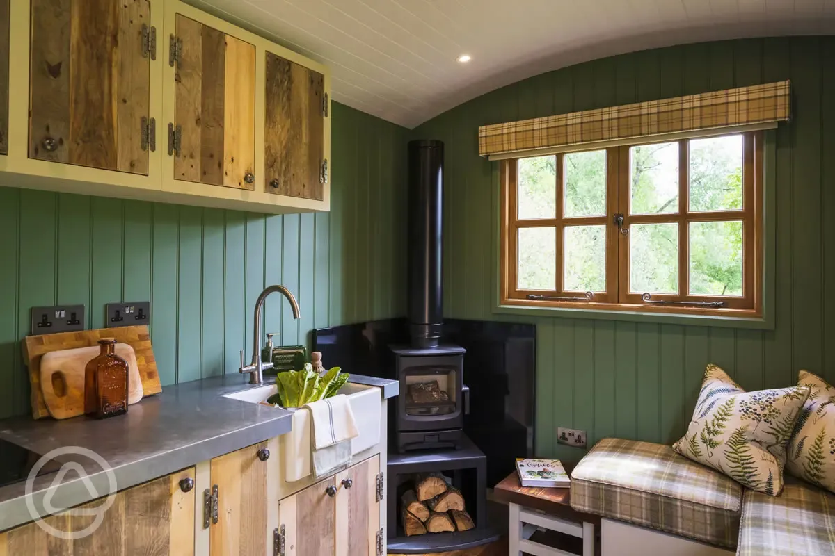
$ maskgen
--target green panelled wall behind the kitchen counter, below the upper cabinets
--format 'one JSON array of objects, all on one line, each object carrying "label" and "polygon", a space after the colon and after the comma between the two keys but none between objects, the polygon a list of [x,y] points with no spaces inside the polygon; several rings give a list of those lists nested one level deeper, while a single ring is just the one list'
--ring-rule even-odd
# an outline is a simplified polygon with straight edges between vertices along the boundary
[{"label": "green panelled wall behind the kitchen counter, below the upper cabinets", "polygon": [[[28,412],[20,340],[29,308],[83,303],[88,328],[104,303],[153,303],[163,384],[234,373],[251,356],[252,310],[280,296],[266,332],[285,345],[311,328],[404,313],[407,130],[337,103],[331,213],[265,216],[209,208],[0,188],[0,418]],[[327,362],[325,362],[327,363]]]}]

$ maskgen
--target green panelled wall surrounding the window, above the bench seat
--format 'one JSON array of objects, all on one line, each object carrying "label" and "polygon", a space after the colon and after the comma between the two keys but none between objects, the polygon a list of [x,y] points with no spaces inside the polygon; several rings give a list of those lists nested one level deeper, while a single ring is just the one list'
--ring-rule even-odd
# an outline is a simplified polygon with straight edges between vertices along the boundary
[{"label": "green panelled wall surrounding the window, above the bench seat", "polygon": [[693,44],[579,64],[475,98],[412,133],[446,142],[444,303],[448,317],[492,313],[495,164],[477,128],[574,110],[792,79],[792,123],[777,132],[777,325],[760,331],[570,318],[537,325],[536,447],[558,425],[672,442],[690,421],[708,362],[749,389],[785,386],[798,368],[835,381],[835,38]]}]

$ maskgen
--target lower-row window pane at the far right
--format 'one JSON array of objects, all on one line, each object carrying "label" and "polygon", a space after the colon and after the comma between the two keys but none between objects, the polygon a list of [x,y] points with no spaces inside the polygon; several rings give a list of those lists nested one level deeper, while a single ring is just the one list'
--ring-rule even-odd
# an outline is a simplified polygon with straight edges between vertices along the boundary
[{"label": "lower-row window pane at the far right", "polygon": [[690,293],[742,295],[742,223],[690,224]]}]

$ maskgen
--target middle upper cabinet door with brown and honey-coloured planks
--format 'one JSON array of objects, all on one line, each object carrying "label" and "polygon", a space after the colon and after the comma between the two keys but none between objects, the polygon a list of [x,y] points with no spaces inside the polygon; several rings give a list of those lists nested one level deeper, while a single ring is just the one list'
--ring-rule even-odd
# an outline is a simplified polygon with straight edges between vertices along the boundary
[{"label": "middle upper cabinet door with brown and honey-coloured planks", "polygon": [[175,179],[255,188],[256,48],[176,16]]}]

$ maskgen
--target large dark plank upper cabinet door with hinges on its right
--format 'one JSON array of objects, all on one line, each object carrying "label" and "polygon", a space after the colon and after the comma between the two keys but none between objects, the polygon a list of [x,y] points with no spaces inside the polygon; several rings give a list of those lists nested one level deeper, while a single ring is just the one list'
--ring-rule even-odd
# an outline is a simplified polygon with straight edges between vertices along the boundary
[{"label": "large dark plank upper cabinet door with hinges on its right", "polygon": [[29,158],[147,175],[149,0],[31,3]]}]

